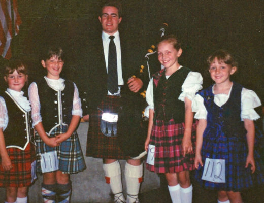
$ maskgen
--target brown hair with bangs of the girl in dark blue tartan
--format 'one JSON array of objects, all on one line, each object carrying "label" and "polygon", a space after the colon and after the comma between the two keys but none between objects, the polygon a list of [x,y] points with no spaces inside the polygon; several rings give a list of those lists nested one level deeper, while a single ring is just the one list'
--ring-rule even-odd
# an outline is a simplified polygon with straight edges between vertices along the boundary
[{"label": "brown hair with bangs of the girl in dark blue tartan", "polygon": [[218,61],[222,61],[225,64],[231,65],[232,67],[235,67],[235,66],[238,67],[238,62],[235,59],[235,57],[226,50],[219,49],[213,54],[211,54],[207,58],[207,64],[210,66],[215,58],[217,58]]}]

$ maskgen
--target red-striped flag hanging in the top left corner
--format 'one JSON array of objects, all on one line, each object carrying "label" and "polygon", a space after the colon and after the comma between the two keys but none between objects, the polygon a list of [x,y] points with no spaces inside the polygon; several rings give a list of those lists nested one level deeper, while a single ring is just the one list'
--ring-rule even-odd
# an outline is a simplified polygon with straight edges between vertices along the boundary
[{"label": "red-striped flag hanging in the top left corner", "polygon": [[[11,12],[11,3],[13,2],[13,18]],[[13,34],[16,36],[19,32],[19,25],[22,23],[18,10],[17,0],[0,0],[0,54],[5,59],[10,59],[11,40]],[[14,27],[12,27],[12,20]]]}]

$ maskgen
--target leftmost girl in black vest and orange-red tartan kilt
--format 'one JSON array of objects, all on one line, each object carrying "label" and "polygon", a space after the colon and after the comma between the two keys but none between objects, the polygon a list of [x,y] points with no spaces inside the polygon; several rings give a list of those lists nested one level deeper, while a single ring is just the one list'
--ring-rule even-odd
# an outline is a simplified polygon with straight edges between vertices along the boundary
[{"label": "leftmost girl in black vest and orange-red tartan kilt", "polygon": [[0,186],[6,188],[5,202],[27,202],[28,186],[36,178],[30,103],[22,88],[27,66],[11,61],[5,67],[7,90],[0,97]]}]

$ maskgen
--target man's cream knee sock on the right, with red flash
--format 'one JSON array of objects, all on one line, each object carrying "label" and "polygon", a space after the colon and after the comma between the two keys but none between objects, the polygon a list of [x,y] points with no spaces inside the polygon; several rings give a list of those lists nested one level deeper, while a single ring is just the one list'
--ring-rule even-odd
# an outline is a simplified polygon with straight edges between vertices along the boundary
[{"label": "man's cream knee sock on the right, with red flash", "polygon": [[125,163],[125,181],[126,181],[126,202],[138,202],[140,184],[143,181],[143,163],[141,165],[131,165]]}]

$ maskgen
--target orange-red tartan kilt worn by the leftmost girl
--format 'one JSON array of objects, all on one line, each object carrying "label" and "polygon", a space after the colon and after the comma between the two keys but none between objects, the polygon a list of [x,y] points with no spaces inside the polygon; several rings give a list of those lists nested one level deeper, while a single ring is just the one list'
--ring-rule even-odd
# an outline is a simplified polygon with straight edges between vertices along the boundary
[{"label": "orange-red tartan kilt worn by the leftmost girl", "polygon": [[31,184],[31,163],[35,161],[34,145],[28,143],[25,150],[7,148],[12,169],[5,171],[0,156],[0,187],[28,187]]}]

